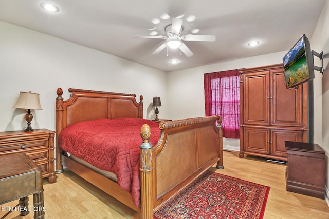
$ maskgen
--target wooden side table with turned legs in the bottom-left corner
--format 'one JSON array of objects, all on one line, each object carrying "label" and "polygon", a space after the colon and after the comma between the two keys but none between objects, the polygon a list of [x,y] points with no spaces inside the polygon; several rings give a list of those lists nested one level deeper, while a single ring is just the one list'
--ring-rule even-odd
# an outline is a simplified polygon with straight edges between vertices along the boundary
[{"label": "wooden side table with turned legs in the bottom-left corner", "polygon": [[[41,168],[24,153],[0,156],[0,167],[0,205],[20,198],[21,216],[33,211],[34,218],[44,218]],[[28,208],[31,194],[33,207]]]}]

